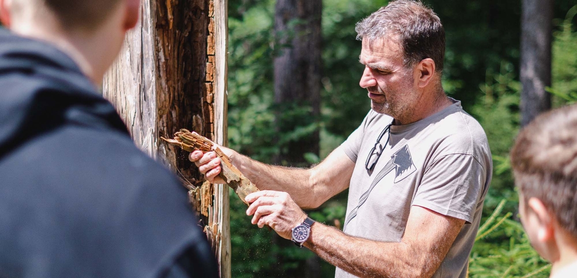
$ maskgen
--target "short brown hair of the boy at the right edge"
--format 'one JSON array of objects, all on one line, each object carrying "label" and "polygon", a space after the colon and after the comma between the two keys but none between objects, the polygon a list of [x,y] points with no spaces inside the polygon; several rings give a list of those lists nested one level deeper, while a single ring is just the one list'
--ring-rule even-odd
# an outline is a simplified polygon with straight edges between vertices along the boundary
[{"label": "short brown hair of the boy at the right edge", "polygon": [[577,237],[577,104],[539,115],[511,151],[515,184],[536,197]]}]

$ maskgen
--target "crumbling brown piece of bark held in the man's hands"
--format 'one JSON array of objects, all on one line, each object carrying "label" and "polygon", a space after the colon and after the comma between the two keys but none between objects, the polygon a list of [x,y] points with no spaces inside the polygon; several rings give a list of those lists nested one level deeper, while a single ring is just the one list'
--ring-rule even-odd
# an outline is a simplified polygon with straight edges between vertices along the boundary
[{"label": "crumbling brown piece of bark held in the man's hands", "polygon": [[[259,191],[256,186],[249,181],[237,167],[233,165],[230,161],[230,157],[225,155],[218,146],[215,146],[214,142],[208,140],[208,138],[201,136],[194,132],[189,132],[189,130],[181,129],[179,132],[174,134],[174,139],[167,139],[160,137],[162,140],[181,147],[183,150],[188,152],[193,151],[203,151],[209,152],[214,151],[216,155],[220,158],[220,173],[219,177],[223,179],[230,186],[234,193],[237,193],[238,197],[241,198],[242,202],[249,205],[245,201],[248,194]],[[214,149],[213,149],[214,148]]]}]

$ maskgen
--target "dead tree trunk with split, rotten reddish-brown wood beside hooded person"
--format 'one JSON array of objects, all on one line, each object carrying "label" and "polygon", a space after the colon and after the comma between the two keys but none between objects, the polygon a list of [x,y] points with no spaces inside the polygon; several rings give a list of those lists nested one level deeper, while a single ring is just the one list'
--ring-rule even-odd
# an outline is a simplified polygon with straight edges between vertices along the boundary
[{"label": "dead tree trunk with split, rotten reddish-brown wood beside hooded person", "polygon": [[188,153],[160,140],[186,128],[226,145],[227,0],[143,0],[139,26],[128,33],[104,77],[103,94],[144,152],[196,188],[194,206],[230,277],[228,186],[203,184]]}]

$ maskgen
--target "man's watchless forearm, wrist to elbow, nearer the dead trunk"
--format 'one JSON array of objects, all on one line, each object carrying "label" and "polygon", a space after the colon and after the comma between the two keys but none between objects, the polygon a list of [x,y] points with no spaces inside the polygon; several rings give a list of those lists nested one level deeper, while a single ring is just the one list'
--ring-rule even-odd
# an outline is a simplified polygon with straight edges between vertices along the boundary
[{"label": "man's watchless forearm, wrist to elbow, nearer the dead trunk", "polygon": [[272,166],[236,152],[231,160],[258,189],[287,192],[301,208],[317,206],[316,194],[310,194],[310,169]]}]

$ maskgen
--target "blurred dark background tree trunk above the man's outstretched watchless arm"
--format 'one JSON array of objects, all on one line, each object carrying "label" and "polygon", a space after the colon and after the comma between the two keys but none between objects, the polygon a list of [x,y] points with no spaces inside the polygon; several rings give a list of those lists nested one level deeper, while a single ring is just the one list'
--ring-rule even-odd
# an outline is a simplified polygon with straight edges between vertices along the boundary
[{"label": "blurred dark background tree trunk above the man's outstretched watchless arm", "polygon": [[[304,154],[319,154],[321,89],[320,0],[278,0],[275,10],[275,103],[278,134],[305,130],[292,140],[279,138],[276,163],[302,166]],[[298,112],[300,111],[300,112]]]}]

